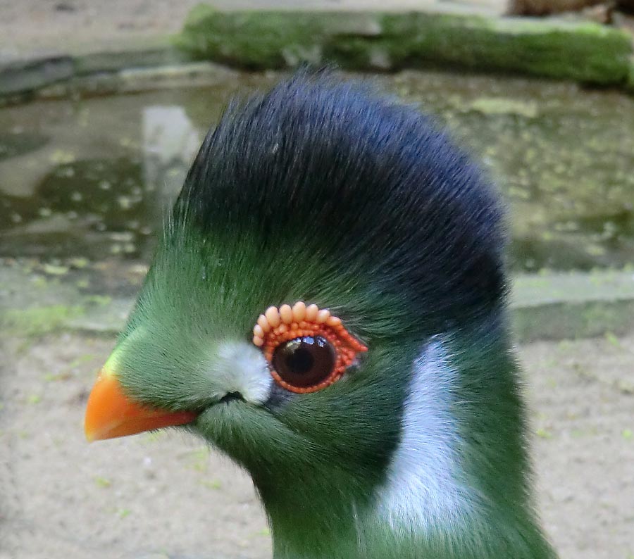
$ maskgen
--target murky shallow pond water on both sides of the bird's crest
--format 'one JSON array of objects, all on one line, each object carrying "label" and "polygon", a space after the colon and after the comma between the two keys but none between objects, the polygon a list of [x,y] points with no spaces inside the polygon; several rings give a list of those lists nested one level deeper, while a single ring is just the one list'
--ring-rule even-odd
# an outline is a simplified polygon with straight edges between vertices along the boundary
[{"label": "murky shallow pond water on both sides of the bird's crest", "polygon": [[[0,110],[0,257],[147,262],[204,132],[230,96],[275,79]],[[483,161],[509,201],[514,270],[631,260],[634,99],[438,72],[372,79]]]}]

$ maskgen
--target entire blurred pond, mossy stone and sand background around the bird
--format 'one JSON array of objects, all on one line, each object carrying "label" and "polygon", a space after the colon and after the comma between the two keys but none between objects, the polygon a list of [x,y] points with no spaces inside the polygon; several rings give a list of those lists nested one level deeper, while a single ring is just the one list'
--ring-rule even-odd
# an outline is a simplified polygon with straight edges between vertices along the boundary
[{"label": "entire blurred pond, mossy stone and sand background around the bird", "polygon": [[[386,12],[387,11],[387,12]],[[509,208],[537,505],[634,558],[631,0],[0,0],[0,558],[267,558],[249,478],[85,401],[228,100],[335,63],[433,115]]]}]

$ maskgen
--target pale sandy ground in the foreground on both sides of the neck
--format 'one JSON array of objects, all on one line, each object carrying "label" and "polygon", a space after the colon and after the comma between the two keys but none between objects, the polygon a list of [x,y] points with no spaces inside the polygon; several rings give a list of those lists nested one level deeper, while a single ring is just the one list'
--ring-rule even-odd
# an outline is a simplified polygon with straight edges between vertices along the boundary
[{"label": "pale sandy ground in the foreground on both sides of the neck", "polygon": [[[6,341],[0,558],[270,557],[249,477],[202,441],[84,441],[87,392],[111,345]],[[561,559],[634,557],[633,348],[634,334],[521,348],[538,503]]]}]

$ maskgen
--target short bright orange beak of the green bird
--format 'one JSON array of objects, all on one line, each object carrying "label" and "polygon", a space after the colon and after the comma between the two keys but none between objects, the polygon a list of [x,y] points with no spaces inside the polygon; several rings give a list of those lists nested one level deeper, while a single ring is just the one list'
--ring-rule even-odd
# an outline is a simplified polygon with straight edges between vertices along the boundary
[{"label": "short bright orange beak of the green bird", "polygon": [[116,375],[104,368],[88,398],[84,431],[86,439],[92,442],[183,425],[196,417],[192,412],[156,410],[132,401],[123,394]]}]

